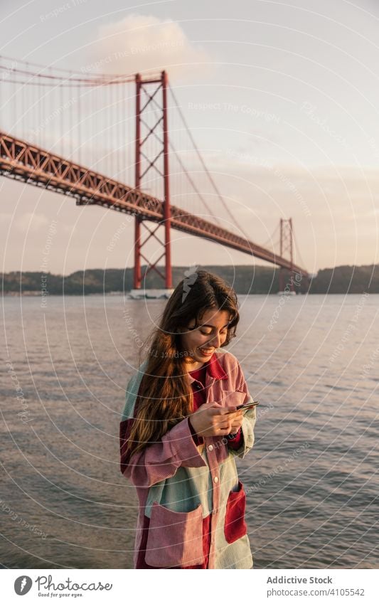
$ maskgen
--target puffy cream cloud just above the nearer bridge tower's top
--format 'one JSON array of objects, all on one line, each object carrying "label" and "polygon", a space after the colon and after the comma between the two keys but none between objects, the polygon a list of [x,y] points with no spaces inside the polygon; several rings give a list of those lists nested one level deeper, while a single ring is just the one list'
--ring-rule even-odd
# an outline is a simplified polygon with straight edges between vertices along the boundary
[{"label": "puffy cream cloud just above the nearer bridge tower's top", "polygon": [[208,73],[210,57],[188,40],[178,23],[154,16],[131,14],[100,27],[86,72],[132,74],[150,70],[169,72],[170,78]]}]

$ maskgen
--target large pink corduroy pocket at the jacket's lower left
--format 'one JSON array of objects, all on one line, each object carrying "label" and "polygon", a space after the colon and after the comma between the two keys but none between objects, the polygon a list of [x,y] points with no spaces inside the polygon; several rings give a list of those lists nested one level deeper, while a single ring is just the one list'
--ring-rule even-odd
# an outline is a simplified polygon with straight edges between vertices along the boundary
[{"label": "large pink corduroy pocket at the jacket's lower left", "polygon": [[202,564],[203,508],[173,512],[153,503],[147,536],[145,560],[149,566],[194,566]]}]

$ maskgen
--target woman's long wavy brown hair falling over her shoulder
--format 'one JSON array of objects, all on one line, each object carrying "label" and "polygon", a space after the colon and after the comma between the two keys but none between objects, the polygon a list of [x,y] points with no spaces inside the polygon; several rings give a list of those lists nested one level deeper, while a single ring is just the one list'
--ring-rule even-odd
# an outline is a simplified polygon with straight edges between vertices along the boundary
[{"label": "woman's long wavy brown hair falling over her shoulder", "polygon": [[134,407],[135,420],[127,445],[130,454],[144,450],[149,443],[156,443],[167,430],[192,413],[193,394],[180,332],[188,329],[192,319],[196,319],[197,327],[208,309],[230,313],[232,319],[221,344],[227,346],[235,337],[240,320],[235,291],[218,275],[196,270],[178,283],[158,327],[148,338],[152,341]]}]

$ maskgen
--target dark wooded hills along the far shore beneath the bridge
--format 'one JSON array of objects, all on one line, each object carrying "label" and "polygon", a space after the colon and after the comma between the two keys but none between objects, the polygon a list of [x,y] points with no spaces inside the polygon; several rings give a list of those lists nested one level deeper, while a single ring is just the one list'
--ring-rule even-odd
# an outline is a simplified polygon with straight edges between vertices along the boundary
[{"label": "dark wooded hills along the far shore beneath the bridge", "polygon": [[[279,293],[279,268],[260,265],[225,265],[198,266],[191,265],[222,277],[237,295],[277,295]],[[142,267],[142,275],[146,267]],[[128,295],[134,289],[133,268],[89,269],[76,271],[70,275],[54,275],[51,272],[4,273],[2,290],[4,297],[46,297],[49,295]],[[172,267],[173,287],[183,280],[188,272],[188,265]],[[284,272],[281,285],[286,295],[290,290],[289,272]],[[163,280],[150,271],[146,279],[142,277],[142,289],[162,290]],[[306,279],[294,280],[294,291],[299,294],[378,294],[379,265],[324,268],[316,275]]]}]

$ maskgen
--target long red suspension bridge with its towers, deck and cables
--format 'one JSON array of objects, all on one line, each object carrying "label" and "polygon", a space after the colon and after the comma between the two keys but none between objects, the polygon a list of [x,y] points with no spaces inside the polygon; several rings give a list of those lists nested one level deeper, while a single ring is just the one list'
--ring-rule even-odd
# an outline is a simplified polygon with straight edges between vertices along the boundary
[{"label": "long red suspension bridge with its towers, deck and cables", "polygon": [[[280,219],[278,253],[252,242],[237,223],[165,71],[86,75],[0,57],[0,76],[1,123],[6,124],[0,132],[0,174],[73,197],[78,206],[132,214],[135,290],[141,290],[150,270],[171,290],[171,228],[277,265],[280,290],[286,275],[292,291],[295,280],[308,284],[308,272],[294,263],[291,219]],[[188,153],[197,169],[186,167]],[[173,198],[181,207],[171,203]],[[225,214],[235,233],[221,226],[219,217]],[[157,235],[162,227],[164,240]],[[154,263],[143,249],[151,238],[161,248]],[[162,258],[164,270],[158,265]]]}]

